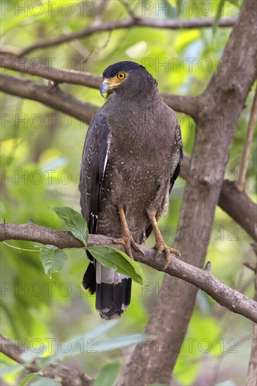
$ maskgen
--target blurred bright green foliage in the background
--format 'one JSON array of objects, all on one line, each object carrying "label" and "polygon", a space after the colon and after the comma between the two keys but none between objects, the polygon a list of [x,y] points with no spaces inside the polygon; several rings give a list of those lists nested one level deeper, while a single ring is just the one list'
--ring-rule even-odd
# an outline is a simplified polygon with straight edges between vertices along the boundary
[{"label": "blurred bright green foliage in the background", "polygon": [[[37,4],[33,6],[33,3]],[[218,27],[220,15],[237,16],[241,4],[242,1],[223,0],[133,0],[129,1],[129,6],[139,16],[157,20],[212,16],[216,24],[204,29],[133,27],[99,32],[79,41],[39,49],[28,56],[59,69],[79,69],[93,75],[100,75],[114,62],[133,60],[147,67],[157,79],[160,91],[198,95],[217,68],[230,35],[231,28]],[[43,0],[2,1],[1,42],[5,46],[24,48],[41,39],[83,29],[95,20],[98,7],[97,1],[53,1],[52,4]],[[103,21],[128,17],[126,8],[118,0],[110,1],[103,13]],[[28,77],[42,81],[40,77]],[[96,90],[70,84],[61,84],[60,88],[81,100],[103,105]],[[253,92],[240,117],[225,171],[230,180],[237,180],[252,100]],[[49,208],[70,206],[80,211],[77,186],[86,125],[38,102],[5,94],[1,94],[1,112],[1,169],[4,173],[1,218],[13,223],[25,223],[33,218],[38,225],[63,229],[61,220]],[[178,114],[178,118],[185,152],[191,154],[195,123],[185,114]],[[221,117],[221,120],[223,118],[225,130],[226,120],[232,117]],[[246,191],[253,199],[256,199],[256,158],[256,148],[252,147]],[[220,175],[223,172],[220,171]],[[184,187],[185,182],[178,179],[171,194],[169,215],[159,221],[169,245],[175,237]],[[206,258],[211,260],[213,274],[218,279],[252,297],[253,274],[242,265],[246,256],[254,260],[250,242],[239,225],[217,208]],[[150,237],[147,246],[153,244],[154,239]],[[104,324],[95,312],[94,297],[81,291],[81,278],[87,265],[84,251],[66,252],[68,260],[64,269],[49,279],[41,266],[37,245],[25,241],[8,241],[1,245],[2,332],[34,352],[41,346],[46,347],[46,357],[53,354],[53,350],[60,352],[62,341],[83,337],[95,326]],[[115,329],[107,331],[109,338],[143,331],[163,278],[161,272],[150,267],[143,267],[143,270],[148,285],[143,288],[133,285],[131,306]],[[180,291],[189,291],[189,286],[183,286]],[[172,295],[179,293],[174,289]],[[169,345],[173,343],[176,345],[176,342],[169,342]],[[250,348],[251,323],[230,314],[199,292],[174,371],[175,382],[197,384],[197,380],[214,372],[217,384],[227,381],[228,385],[242,385]],[[95,385],[109,385],[117,378],[130,350],[81,350],[81,354],[66,360],[70,366],[96,376]],[[20,375],[20,366],[6,357],[3,361],[9,365],[4,366],[6,375],[2,375],[8,382],[17,384],[24,378],[24,373]]]}]

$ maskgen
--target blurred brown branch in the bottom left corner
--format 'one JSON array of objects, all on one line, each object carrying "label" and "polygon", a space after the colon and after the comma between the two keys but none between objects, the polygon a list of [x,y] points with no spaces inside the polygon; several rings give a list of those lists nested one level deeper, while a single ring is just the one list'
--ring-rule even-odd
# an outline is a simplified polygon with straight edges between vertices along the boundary
[{"label": "blurred brown branch in the bottom left corner", "polygon": [[52,363],[44,366],[39,366],[38,359],[34,359],[32,364],[27,365],[22,359],[22,352],[25,352],[25,347],[18,345],[14,340],[4,337],[0,334],[0,352],[3,352],[7,357],[13,359],[19,364],[23,364],[30,373],[41,371],[42,375],[49,378],[61,378],[62,386],[93,386],[93,378],[73,370],[67,366],[62,366],[58,363]]}]

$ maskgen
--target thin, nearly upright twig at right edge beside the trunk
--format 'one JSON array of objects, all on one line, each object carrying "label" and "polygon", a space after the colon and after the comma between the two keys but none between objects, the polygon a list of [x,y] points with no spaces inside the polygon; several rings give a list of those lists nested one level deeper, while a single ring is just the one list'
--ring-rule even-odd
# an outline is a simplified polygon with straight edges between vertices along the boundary
[{"label": "thin, nearly upright twig at right edge beside the trunk", "polygon": [[251,142],[253,140],[253,130],[254,130],[256,117],[257,117],[257,89],[255,91],[254,98],[253,98],[253,105],[251,107],[251,114],[250,114],[249,124],[247,128],[246,140],[244,142],[244,152],[242,155],[242,161],[239,168],[238,189],[241,191],[244,190],[247,165],[249,161]]}]

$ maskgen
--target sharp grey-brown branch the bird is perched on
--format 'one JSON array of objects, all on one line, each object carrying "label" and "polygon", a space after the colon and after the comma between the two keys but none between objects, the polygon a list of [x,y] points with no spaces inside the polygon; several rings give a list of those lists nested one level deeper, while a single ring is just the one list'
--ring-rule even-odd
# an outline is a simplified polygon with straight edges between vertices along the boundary
[{"label": "sharp grey-brown branch the bird is perched on", "polygon": [[[4,240],[25,240],[34,241],[41,244],[51,244],[58,248],[83,248],[83,244],[75,239],[70,232],[56,231],[46,227],[39,227],[30,221],[28,224],[15,225],[4,222],[0,225],[0,241]],[[112,243],[112,238],[100,234],[90,234],[88,246],[107,245],[117,248],[117,244]],[[123,246],[120,248],[124,250]],[[197,288],[201,288],[208,293],[216,302],[232,312],[242,314],[244,317],[257,322],[257,303],[246,298],[232,288],[226,286],[213,277],[211,270],[193,267],[186,262],[173,258],[171,263],[166,264],[164,255],[157,256],[154,249],[141,247],[143,253],[134,252],[135,260],[159,271],[183,279]]]}]

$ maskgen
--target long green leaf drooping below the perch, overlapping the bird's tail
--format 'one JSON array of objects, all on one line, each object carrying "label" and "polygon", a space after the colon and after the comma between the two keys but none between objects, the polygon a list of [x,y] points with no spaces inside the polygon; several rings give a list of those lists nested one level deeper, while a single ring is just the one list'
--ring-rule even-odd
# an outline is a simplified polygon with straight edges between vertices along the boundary
[{"label": "long green leaf drooping below the perch, overlapping the bird's tail", "polygon": [[87,247],[86,250],[105,267],[114,268],[120,274],[131,277],[136,283],[143,286],[145,277],[142,268],[126,253],[110,246],[92,246]]}]

